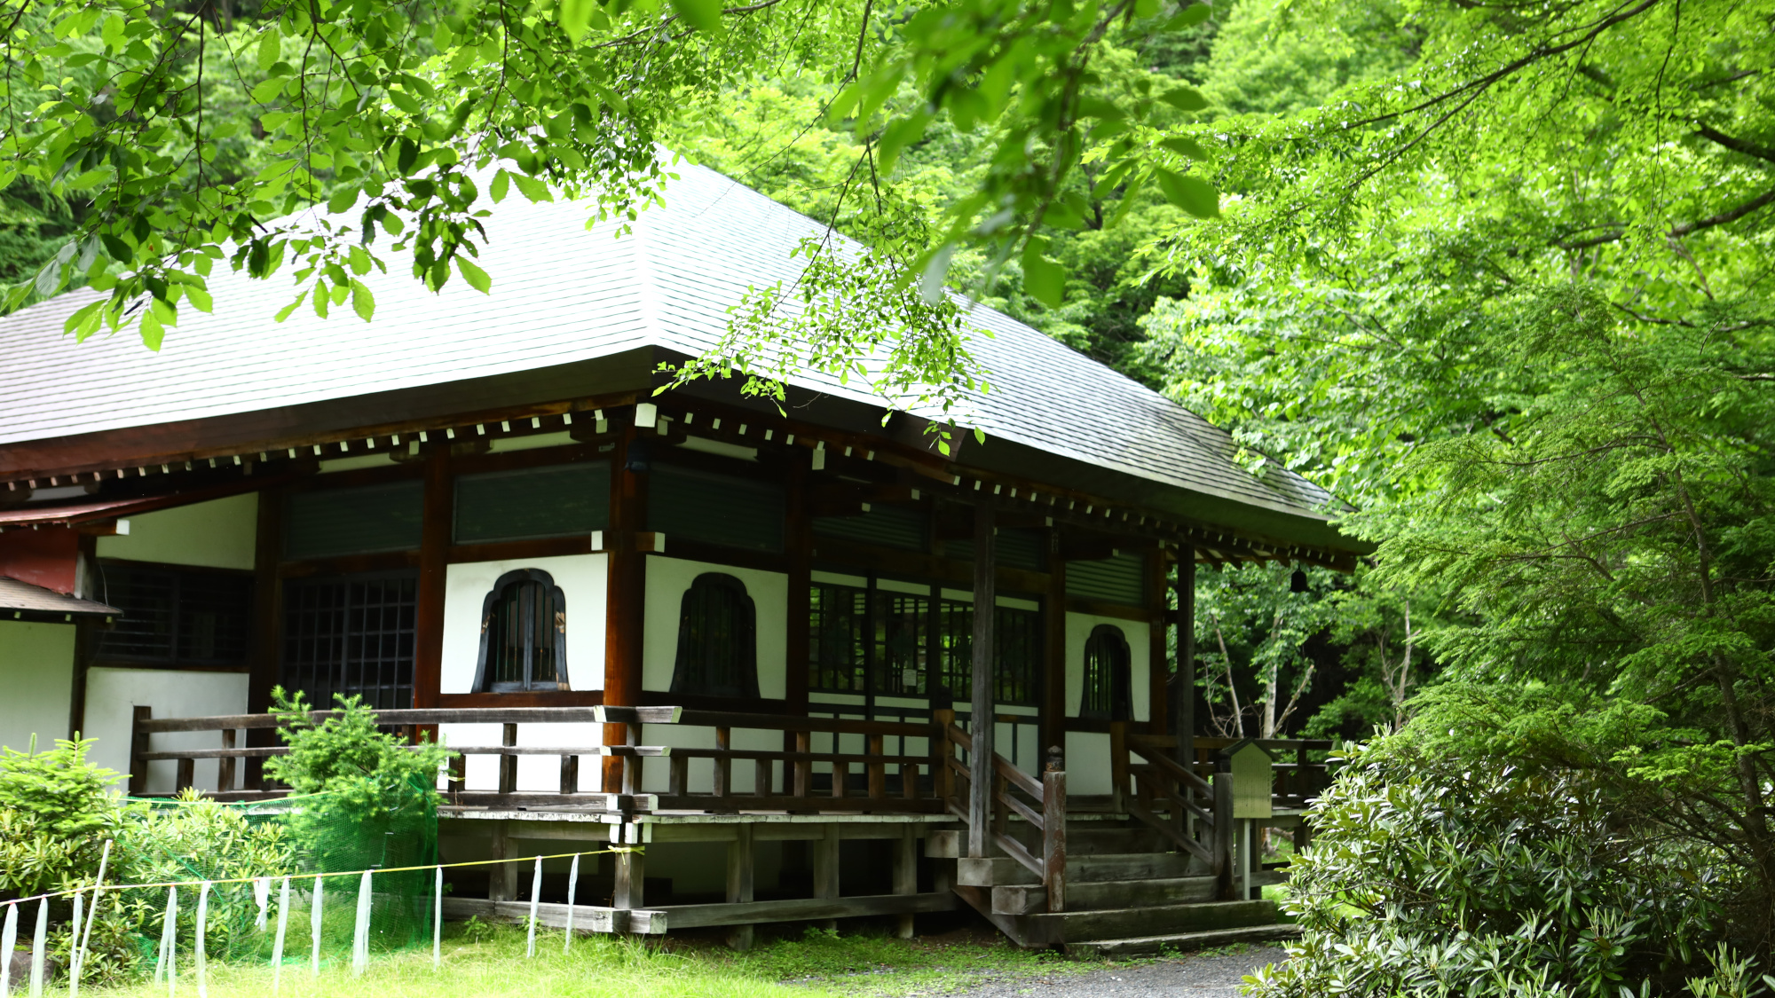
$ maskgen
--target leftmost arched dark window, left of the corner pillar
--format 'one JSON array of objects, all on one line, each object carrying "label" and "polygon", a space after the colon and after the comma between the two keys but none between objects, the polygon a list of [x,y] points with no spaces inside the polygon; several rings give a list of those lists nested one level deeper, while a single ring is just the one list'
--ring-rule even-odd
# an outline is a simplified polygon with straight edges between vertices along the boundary
[{"label": "leftmost arched dark window, left of the corner pillar", "polygon": [[566,597],[547,572],[506,572],[486,593],[474,689],[566,689]]}]

